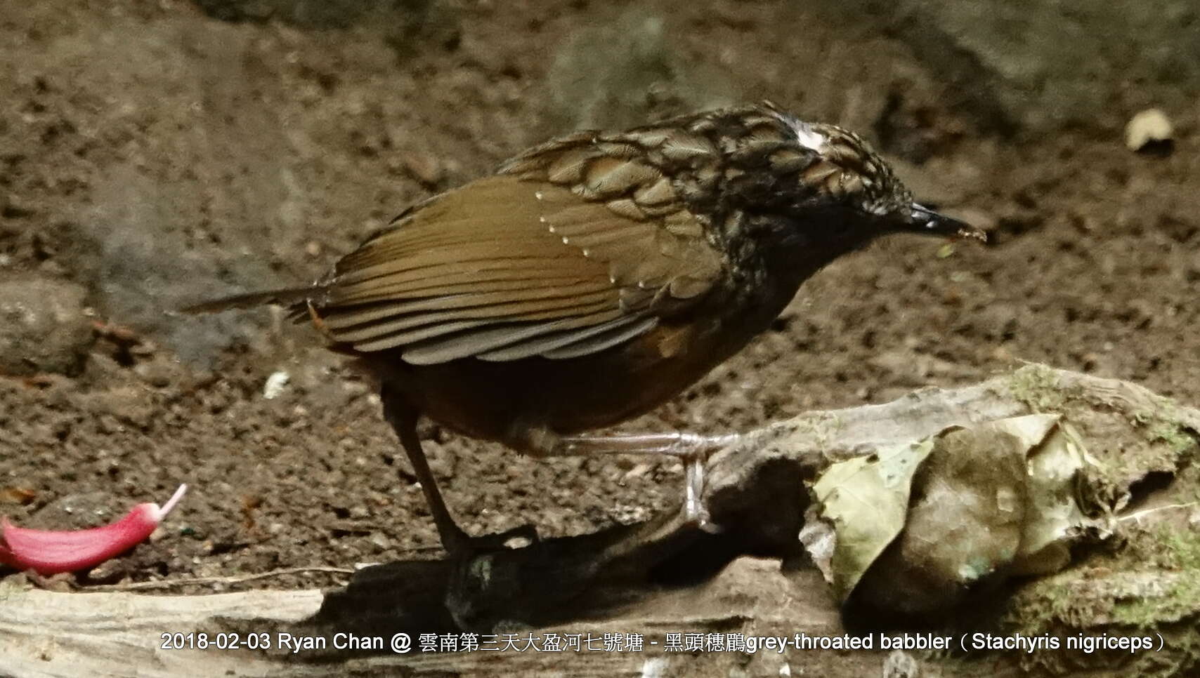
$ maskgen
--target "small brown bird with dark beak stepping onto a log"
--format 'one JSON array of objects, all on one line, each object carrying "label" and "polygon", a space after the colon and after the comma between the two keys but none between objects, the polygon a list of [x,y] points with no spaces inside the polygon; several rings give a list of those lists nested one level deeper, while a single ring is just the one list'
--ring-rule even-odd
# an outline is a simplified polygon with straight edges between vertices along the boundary
[{"label": "small brown bird with dark beak stepping onto a log", "polygon": [[727,436],[577,435],[678,394],[767,329],[800,283],[874,237],[984,238],[913,202],[858,135],[770,103],[578,132],[409,207],[277,303],[382,383],[443,545],[472,545],[416,436],[425,414],[532,455],[668,453],[685,510]]}]

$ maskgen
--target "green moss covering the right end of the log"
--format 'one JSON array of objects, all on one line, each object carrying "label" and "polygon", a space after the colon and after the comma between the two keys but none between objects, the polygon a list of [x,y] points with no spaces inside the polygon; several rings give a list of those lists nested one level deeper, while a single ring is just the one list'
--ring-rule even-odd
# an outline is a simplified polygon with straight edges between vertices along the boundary
[{"label": "green moss covering the right end of the log", "polygon": [[[1034,412],[1062,413],[1088,436],[1090,452],[1100,464],[1088,470],[1082,486],[1097,506],[1120,506],[1130,484],[1154,471],[1174,474],[1169,491],[1156,490],[1156,502],[1200,498],[1200,472],[1194,467],[1200,431],[1174,400],[1072,392],[1060,373],[1036,364],[1006,381],[1015,400]],[[1130,402],[1140,405],[1134,410]],[[1012,632],[1060,638],[1160,636],[1162,652],[1036,652],[1016,659],[1022,670],[1051,676],[1080,668],[1156,678],[1200,676],[1200,533],[1188,529],[1177,513],[1153,522],[1158,526],[1121,523],[1118,539],[1088,550],[1086,559],[1082,551],[1076,553],[1080,567],[1027,582],[1008,600],[1004,625]]]}]

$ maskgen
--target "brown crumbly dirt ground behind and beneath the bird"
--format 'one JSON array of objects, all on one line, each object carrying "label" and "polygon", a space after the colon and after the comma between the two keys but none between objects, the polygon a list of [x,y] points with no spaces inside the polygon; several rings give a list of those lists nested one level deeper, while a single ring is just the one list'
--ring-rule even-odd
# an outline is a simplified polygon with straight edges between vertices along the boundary
[{"label": "brown crumbly dirt ground behind and beneath the bird", "polygon": [[[164,311],[313,279],[406,205],[548,135],[762,97],[880,141],[991,241],[898,236],[835,262],[769,333],[625,429],[746,429],[1018,361],[1200,402],[1195,111],[1166,153],[1126,149],[1138,97],[1120,92],[1086,126],[1013,129],[875,19],[821,7],[11,4],[0,285],[44,286],[38,298],[85,315],[54,320],[52,339],[0,328],[0,514],[90,526],[190,485],[152,543],[83,585],[436,555],[372,386],[314,332],[268,310]],[[670,508],[682,488],[672,462],[533,461],[424,436],[473,532],[589,532]]]}]

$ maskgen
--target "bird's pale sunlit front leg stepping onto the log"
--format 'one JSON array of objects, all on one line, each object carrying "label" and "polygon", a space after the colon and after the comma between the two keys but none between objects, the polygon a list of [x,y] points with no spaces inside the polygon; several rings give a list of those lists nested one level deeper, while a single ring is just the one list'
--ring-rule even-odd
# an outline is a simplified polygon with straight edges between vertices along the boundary
[{"label": "bird's pale sunlit front leg stepping onto the log", "polygon": [[527,440],[534,454],[578,456],[584,454],[670,454],[684,462],[683,510],[685,517],[702,529],[715,532],[704,506],[704,462],[712,453],[738,440],[737,434],[704,436],[697,434],[624,434],[610,436],[557,436],[551,431],[530,431]]}]

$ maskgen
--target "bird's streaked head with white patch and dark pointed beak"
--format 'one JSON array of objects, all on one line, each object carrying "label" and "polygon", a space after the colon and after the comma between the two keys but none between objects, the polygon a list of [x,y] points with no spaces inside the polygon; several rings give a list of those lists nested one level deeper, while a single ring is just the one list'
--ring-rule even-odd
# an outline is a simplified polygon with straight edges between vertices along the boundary
[{"label": "bird's streaked head with white patch and dark pointed beak", "polygon": [[[798,208],[832,207],[870,234],[918,232],[986,241],[984,231],[916,202],[871,146],[835,125],[804,122],[782,114],[797,144],[815,155],[798,172]],[[811,156],[809,156],[811,158]]]}]

